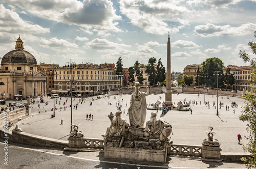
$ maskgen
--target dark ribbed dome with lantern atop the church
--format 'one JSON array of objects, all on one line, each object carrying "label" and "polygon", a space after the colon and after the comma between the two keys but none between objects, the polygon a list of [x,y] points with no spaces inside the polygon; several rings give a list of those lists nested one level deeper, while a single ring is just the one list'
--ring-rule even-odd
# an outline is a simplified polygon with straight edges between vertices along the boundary
[{"label": "dark ribbed dome with lantern atop the church", "polygon": [[15,50],[9,51],[2,58],[1,64],[34,64],[37,65],[35,57],[24,50],[23,41],[18,37]]}]

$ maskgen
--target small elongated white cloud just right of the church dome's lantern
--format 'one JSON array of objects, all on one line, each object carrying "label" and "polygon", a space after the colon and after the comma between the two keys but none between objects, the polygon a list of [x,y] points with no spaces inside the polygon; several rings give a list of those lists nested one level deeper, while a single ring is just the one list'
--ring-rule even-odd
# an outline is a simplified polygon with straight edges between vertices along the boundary
[{"label": "small elongated white cloud just right of the church dome's lantern", "polygon": [[56,50],[56,51],[66,51],[66,50],[78,48],[78,45],[74,43],[70,43],[64,39],[57,39],[57,38],[51,38],[49,40],[41,39],[39,41],[39,45],[45,48]]}]

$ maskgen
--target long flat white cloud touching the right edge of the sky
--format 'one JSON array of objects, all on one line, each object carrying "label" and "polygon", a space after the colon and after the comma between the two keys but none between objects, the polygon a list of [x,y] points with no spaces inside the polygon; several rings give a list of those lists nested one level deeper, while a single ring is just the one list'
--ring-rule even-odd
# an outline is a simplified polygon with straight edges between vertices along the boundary
[{"label": "long flat white cloud touching the right edge of the sky", "polygon": [[195,32],[200,37],[212,37],[212,36],[243,36],[251,34],[256,30],[256,24],[246,23],[239,27],[231,27],[230,25],[217,26],[212,23],[206,25],[195,26]]}]

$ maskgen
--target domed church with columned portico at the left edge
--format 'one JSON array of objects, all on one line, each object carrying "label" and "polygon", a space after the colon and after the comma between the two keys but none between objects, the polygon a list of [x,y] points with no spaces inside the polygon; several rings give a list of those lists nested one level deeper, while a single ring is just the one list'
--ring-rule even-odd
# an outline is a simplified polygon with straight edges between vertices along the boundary
[{"label": "domed church with columned portico at the left edge", "polygon": [[1,61],[0,92],[2,98],[26,98],[46,94],[47,75],[37,71],[35,57],[24,50],[18,37],[15,50],[9,51]]}]

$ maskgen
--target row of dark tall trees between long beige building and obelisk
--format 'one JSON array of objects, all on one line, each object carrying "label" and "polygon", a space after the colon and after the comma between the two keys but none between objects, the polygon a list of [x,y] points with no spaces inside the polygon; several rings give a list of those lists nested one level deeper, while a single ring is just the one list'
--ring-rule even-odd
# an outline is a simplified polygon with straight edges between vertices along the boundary
[{"label": "row of dark tall trees between long beige building and obelisk", "polygon": [[[157,64],[157,65],[156,65]],[[151,86],[155,87],[157,82],[163,82],[165,80],[165,67],[163,66],[161,59],[156,60],[156,58],[150,58],[147,65],[140,64],[138,61],[135,62],[134,66],[129,67],[129,77],[128,81],[133,84],[135,77],[137,77],[138,82],[143,85],[143,74],[140,68],[146,68],[146,73],[148,77],[148,82]],[[116,74],[119,76],[123,75],[123,64],[121,57],[118,58],[116,63]],[[124,81],[125,82],[125,81]]]}]

